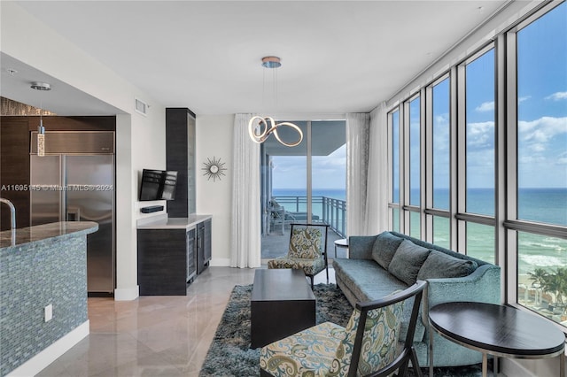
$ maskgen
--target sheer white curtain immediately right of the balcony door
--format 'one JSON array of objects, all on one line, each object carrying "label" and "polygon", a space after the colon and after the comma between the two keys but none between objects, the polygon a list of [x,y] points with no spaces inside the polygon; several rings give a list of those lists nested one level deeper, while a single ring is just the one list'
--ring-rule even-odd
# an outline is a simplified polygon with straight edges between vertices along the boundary
[{"label": "sheer white curtain immediately right of the balcony door", "polygon": [[363,235],[369,163],[367,113],[346,114],[346,233]]}]

